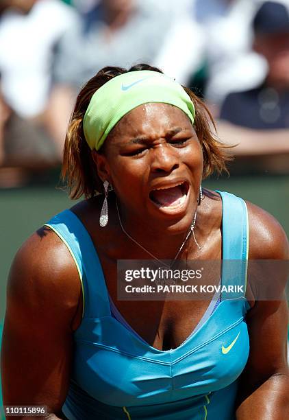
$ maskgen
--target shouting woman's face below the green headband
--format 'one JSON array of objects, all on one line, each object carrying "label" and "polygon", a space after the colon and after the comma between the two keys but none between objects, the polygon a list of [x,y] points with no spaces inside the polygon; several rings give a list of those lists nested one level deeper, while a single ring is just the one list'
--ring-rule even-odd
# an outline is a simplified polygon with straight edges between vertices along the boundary
[{"label": "shouting woman's face below the green headband", "polygon": [[[98,154],[127,218],[183,229],[199,198],[203,153],[186,114],[169,104],[138,106],[116,124]],[[104,171],[104,172],[103,172]]]}]

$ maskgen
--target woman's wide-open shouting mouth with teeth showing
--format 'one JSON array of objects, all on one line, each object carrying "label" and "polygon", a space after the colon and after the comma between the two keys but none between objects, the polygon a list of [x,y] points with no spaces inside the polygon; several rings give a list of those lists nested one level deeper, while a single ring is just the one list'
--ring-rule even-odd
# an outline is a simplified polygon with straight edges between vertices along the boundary
[{"label": "woman's wide-open shouting mouth with teeth showing", "polygon": [[158,205],[158,207],[173,209],[184,204],[188,195],[188,190],[189,185],[184,181],[173,187],[153,189],[149,193],[149,198]]}]

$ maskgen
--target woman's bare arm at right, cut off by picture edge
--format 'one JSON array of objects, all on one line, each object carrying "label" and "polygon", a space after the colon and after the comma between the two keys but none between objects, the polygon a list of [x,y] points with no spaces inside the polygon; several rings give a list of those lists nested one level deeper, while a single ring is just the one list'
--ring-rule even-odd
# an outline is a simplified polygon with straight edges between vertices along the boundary
[{"label": "woman's bare arm at right, cut off by picture edge", "polygon": [[[249,259],[288,259],[288,240],[277,221],[253,205],[249,208]],[[262,246],[260,246],[262,244]],[[288,305],[257,301],[247,315],[250,353],[240,377],[238,420],[283,420],[289,417],[287,363]]]}]

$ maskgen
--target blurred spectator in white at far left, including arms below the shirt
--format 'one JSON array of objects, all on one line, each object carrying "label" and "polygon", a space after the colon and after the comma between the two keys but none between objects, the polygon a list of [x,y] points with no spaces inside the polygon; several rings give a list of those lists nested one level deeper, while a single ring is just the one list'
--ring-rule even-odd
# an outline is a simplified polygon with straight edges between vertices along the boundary
[{"label": "blurred spectator in white at far left, including arms below the shirt", "polygon": [[[46,123],[45,109],[51,89],[54,48],[74,22],[75,11],[60,0],[1,1],[1,102],[9,113],[1,129],[2,163],[5,165],[8,163],[3,153],[8,149],[9,162],[13,154],[12,161],[20,164],[21,153],[25,162],[29,154],[35,162],[37,150],[45,159],[47,134],[42,127]],[[37,144],[32,144],[32,139]],[[12,150],[12,145],[15,150]],[[52,149],[48,149],[47,159],[51,161]],[[54,159],[60,159],[60,152],[54,149],[54,153]]]}]

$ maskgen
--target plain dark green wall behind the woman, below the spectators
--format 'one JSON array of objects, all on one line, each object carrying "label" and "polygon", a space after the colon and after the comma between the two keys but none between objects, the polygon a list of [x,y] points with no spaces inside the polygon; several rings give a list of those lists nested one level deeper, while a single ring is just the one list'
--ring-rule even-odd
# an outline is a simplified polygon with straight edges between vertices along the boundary
[{"label": "plain dark green wall behind the woman, below the spectators", "polygon": [[[5,314],[5,285],[16,250],[52,215],[73,205],[66,192],[55,187],[57,184],[56,172],[42,185],[34,181],[21,189],[0,189],[0,333]],[[289,236],[289,175],[233,175],[206,180],[203,186],[229,191],[266,209],[279,220]]]}]

